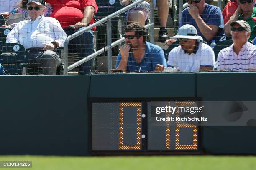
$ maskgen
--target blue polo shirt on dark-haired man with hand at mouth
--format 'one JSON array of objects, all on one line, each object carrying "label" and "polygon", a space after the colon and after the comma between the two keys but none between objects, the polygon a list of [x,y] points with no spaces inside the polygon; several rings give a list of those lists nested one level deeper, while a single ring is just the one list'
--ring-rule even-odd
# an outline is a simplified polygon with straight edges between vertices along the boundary
[{"label": "blue polo shirt on dark-haired man with hand at mouth", "polygon": [[[115,68],[118,67],[122,59],[121,53],[119,52]],[[141,62],[137,63],[132,52],[129,52],[127,62],[127,72],[151,72],[156,70],[156,65],[161,64],[166,67],[166,60],[164,58],[164,51],[158,45],[146,42],[145,54]]]}]

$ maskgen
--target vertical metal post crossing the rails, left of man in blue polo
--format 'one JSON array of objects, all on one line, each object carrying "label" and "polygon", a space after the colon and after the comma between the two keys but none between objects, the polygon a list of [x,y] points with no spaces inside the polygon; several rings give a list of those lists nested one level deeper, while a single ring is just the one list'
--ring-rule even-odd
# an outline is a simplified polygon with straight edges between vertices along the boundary
[{"label": "vertical metal post crossing the rails, left of man in blue polo", "polygon": [[110,69],[112,68],[112,48],[111,48],[111,19],[107,21],[107,47],[110,47],[108,49],[108,74],[110,74]]}]

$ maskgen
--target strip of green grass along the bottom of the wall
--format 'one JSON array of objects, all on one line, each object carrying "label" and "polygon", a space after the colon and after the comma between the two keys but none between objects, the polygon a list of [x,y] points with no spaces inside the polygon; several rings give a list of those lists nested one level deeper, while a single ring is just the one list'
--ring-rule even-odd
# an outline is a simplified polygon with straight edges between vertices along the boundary
[{"label": "strip of green grass along the bottom of the wall", "polygon": [[[256,156],[0,156],[0,161],[32,161],[21,170],[256,170]],[[19,168],[0,168],[17,170]]]}]

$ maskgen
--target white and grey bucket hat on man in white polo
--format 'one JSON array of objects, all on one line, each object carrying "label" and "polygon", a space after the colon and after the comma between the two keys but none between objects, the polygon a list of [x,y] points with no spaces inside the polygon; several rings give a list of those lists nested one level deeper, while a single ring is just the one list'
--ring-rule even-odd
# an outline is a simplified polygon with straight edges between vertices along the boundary
[{"label": "white and grey bucket hat on man in white polo", "polygon": [[201,39],[201,37],[197,35],[197,29],[190,24],[186,24],[180,27],[177,35],[171,38],[172,39],[187,38],[187,39],[193,39],[193,40]]}]

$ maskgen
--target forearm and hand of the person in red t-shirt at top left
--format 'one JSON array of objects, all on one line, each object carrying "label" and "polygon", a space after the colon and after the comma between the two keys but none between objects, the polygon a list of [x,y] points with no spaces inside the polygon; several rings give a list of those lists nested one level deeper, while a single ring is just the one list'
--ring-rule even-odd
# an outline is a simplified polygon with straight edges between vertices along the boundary
[{"label": "forearm and hand of the person in red t-shirt at top left", "polygon": [[89,5],[84,7],[84,15],[83,15],[83,19],[81,20],[81,22],[78,22],[74,25],[74,28],[77,30],[81,27],[87,27],[87,25],[90,23],[90,21],[93,18],[95,9],[93,6]]}]

